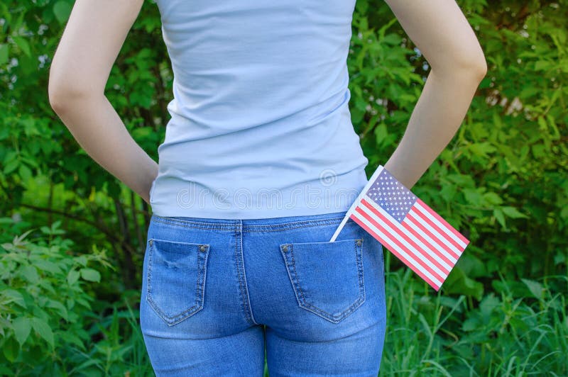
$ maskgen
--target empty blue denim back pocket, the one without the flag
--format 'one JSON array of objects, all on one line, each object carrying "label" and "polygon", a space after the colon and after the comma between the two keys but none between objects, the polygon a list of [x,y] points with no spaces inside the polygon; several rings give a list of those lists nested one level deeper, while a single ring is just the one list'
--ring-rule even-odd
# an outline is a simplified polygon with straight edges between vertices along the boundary
[{"label": "empty blue denim back pocket, the one without the flag", "polygon": [[148,242],[146,300],[173,326],[203,308],[209,244]]}]

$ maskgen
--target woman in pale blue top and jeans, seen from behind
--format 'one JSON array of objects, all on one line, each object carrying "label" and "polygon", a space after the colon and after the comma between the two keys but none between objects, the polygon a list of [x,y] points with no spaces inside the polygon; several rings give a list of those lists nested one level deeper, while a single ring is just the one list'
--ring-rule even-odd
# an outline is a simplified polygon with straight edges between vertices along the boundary
[{"label": "woman in pale blue top and jeans, seen from behind", "polygon": [[[385,167],[408,188],[463,120],[486,62],[453,0],[386,0],[432,68]],[[141,330],[158,376],[376,376],[383,249],[349,220],[366,184],[349,116],[355,0],[157,0],[174,72],[159,166],[104,96],[143,0],[77,0],[54,111],[151,204]]]}]

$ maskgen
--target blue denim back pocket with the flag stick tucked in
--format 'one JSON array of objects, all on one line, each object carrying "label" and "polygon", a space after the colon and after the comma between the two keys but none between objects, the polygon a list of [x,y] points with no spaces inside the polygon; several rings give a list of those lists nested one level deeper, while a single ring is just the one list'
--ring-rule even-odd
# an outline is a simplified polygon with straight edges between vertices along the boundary
[{"label": "blue denim back pocket with the flag stick tucked in", "polygon": [[363,239],[280,244],[300,308],[338,323],[365,302]]}]

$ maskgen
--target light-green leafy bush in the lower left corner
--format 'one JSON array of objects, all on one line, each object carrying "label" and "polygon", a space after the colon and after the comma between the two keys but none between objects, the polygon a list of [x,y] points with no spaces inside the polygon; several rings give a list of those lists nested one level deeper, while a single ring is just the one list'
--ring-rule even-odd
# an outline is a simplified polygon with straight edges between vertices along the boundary
[{"label": "light-green leafy bush in the lower left corner", "polygon": [[74,255],[73,242],[60,237],[59,226],[57,221],[40,227],[33,240],[28,236],[34,230],[28,230],[0,245],[2,373],[59,374],[69,353],[85,351],[90,343],[85,328],[93,297],[85,283],[99,283],[101,275],[92,267],[109,264],[96,247]]}]

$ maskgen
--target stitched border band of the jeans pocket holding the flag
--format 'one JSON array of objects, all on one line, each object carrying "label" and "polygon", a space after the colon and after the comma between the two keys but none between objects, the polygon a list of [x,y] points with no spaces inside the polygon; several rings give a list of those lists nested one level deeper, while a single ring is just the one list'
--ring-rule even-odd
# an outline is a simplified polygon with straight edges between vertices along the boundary
[{"label": "stitched border band of the jeans pocket holding the flag", "polygon": [[[354,302],[349,305],[349,307],[344,308],[341,313],[333,314],[329,313],[329,311],[324,310],[324,308],[319,308],[317,305],[308,302],[308,298],[306,298],[305,293],[302,291],[302,282],[301,276],[297,272],[296,268],[296,259],[295,259],[295,252],[294,247],[299,247],[300,245],[307,245],[320,246],[329,245],[330,247],[334,247],[337,242],[353,242],[354,246],[354,254],[355,254],[355,261],[356,261],[356,273],[357,273],[357,283],[358,283],[358,293],[357,296],[354,298]],[[340,240],[335,242],[302,242],[302,243],[286,243],[280,244],[280,253],[283,255],[286,269],[288,270],[288,276],[294,288],[294,293],[297,299],[297,303],[300,308],[304,308],[305,310],[309,310],[312,313],[320,315],[326,320],[329,320],[333,323],[338,323],[347,317],[349,314],[353,313],[356,308],[359,308],[365,302],[365,286],[364,286],[364,269],[363,269],[363,239],[357,238],[354,240]],[[333,245],[333,246],[332,246]],[[305,278],[307,281],[307,278]],[[352,283],[352,282],[350,282]],[[312,300],[315,300],[313,298]]]}]

